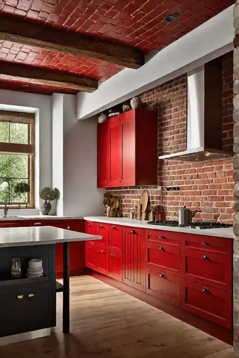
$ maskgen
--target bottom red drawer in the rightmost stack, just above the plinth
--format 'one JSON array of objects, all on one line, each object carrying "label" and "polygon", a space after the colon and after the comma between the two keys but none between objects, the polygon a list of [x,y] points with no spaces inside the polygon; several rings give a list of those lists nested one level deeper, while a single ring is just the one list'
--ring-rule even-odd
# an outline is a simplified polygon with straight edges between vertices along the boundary
[{"label": "bottom red drawer in the rightmost stack, just above the plinth", "polygon": [[227,290],[182,278],[181,307],[232,329],[232,293]]}]

